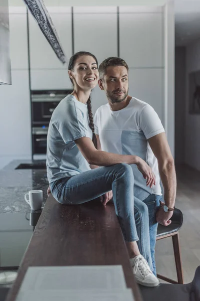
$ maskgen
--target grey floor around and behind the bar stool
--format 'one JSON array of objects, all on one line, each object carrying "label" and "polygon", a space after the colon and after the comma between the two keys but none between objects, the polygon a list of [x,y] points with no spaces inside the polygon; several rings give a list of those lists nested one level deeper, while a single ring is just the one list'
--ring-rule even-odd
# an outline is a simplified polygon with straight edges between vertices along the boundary
[{"label": "grey floor around and behind the bar stool", "polygon": [[[175,206],[183,213],[183,225],[179,233],[184,282],[188,283],[200,265],[200,172],[182,165],[176,167],[176,174]],[[157,273],[176,279],[170,237],[157,241],[155,260]]]}]

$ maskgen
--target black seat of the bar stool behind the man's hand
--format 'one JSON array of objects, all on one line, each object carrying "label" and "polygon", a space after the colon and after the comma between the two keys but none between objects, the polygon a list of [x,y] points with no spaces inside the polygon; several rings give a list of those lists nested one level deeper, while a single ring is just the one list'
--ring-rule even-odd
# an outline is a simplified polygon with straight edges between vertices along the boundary
[{"label": "black seat of the bar stool behind the man's hand", "polygon": [[157,238],[163,235],[168,235],[177,232],[182,226],[182,212],[175,208],[171,217],[171,224],[167,227],[158,224],[157,226]]}]

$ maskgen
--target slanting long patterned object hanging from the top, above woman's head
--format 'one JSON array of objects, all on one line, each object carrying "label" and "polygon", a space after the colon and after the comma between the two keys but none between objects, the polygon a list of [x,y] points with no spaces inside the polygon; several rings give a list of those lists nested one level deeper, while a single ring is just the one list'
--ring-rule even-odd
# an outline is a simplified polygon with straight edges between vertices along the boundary
[{"label": "slanting long patterned object hanging from the top, above woman's head", "polygon": [[[0,0],[1,1],[1,0]],[[65,54],[43,0],[23,0],[58,59],[64,64]]]}]

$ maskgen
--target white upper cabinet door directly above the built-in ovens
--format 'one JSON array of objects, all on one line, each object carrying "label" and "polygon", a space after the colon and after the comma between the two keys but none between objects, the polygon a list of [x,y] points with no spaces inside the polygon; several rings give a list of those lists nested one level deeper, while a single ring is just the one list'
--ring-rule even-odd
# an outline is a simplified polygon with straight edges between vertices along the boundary
[{"label": "white upper cabinet door directly above the built-in ovens", "polygon": [[[70,11],[69,11],[70,12]],[[71,14],[50,14],[60,39],[66,58],[72,54],[71,46]],[[31,89],[67,89],[71,83],[67,73],[67,66],[59,61],[38,25],[29,15],[30,40],[30,80]]]}]

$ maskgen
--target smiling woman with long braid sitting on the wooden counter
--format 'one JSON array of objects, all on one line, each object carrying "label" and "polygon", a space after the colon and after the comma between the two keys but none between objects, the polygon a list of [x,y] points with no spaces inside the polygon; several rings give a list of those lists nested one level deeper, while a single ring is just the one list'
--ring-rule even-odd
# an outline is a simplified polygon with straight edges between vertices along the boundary
[{"label": "smiling woman with long braid sitting on the wooden counter", "polygon": [[[69,60],[68,75],[73,92],[55,108],[47,135],[47,177],[53,197],[61,204],[82,204],[112,190],[113,203],[130,256],[136,281],[158,285],[151,272],[148,212],[140,206],[144,250],[139,253],[134,220],[134,177],[136,164],[146,185],[155,184],[149,166],[139,157],[117,155],[96,149],[90,93],[98,81],[97,60],[88,52],[78,52]],[[92,168],[92,169],[91,169]],[[109,197],[106,194],[106,197]],[[138,201],[137,201],[138,202]]]}]

